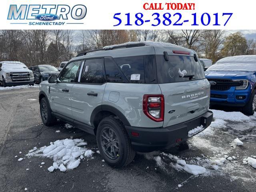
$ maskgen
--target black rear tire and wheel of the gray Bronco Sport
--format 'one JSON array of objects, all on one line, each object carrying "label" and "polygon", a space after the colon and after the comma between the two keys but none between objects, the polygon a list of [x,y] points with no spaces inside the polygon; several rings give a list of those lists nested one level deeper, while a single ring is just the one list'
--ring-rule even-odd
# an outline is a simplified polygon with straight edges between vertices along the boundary
[{"label": "black rear tire and wheel of the gray Bronco Sport", "polygon": [[[106,132],[112,132],[112,135],[109,134],[110,137],[107,137],[105,134]],[[98,125],[96,138],[100,154],[110,166],[121,168],[128,165],[134,159],[135,151],[132,149],[130,138],[126,132],[124,124],[122,124],[118,118],[110,116],[101,120]],[[109,140],[106,138],[109,138]],[[112,138],[112,140],[110,140],[110,138]],[[111,146],[110,142],[112,142]],[[118,146],[118,149],[116,146]],[[110,157],[111,154],[109,151],[105,152],[104,147],[105,149],[107,148],[110,151],[113,151],[116,156],[113,155],[114,157]],[[111,150],[111,148],[113,150]]]}]

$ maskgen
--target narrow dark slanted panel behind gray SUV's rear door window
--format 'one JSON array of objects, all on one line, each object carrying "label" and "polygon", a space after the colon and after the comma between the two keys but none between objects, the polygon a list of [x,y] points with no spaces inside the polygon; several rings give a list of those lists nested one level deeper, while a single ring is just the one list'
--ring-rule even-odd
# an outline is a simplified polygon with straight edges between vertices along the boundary
[{"label": "narrow dark slanted panel behind gray SUV's rear door window", "polygon": [[120,73],[120,69],[114,62],[113,58],[105,57],[105,71],[106,71],[106,78],[107,82],[110,83],[124,83],[124,79],[122,74]]}]

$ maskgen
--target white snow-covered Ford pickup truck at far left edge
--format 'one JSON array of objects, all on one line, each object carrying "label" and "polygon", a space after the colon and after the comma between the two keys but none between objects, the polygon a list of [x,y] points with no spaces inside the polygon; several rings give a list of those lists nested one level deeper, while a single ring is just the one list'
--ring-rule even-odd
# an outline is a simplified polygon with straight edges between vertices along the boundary
[{"label": "white snow-covered Ford pickup truck at far left edge", "polygon": [[34,85],[33,72],[18,61],[0,62],[0,83],[2,86]]}]

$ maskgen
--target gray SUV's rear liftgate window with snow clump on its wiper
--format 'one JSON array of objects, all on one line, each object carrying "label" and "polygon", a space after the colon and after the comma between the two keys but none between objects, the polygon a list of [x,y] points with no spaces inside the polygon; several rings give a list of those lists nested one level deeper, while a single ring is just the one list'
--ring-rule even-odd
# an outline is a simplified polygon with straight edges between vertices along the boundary
[{"label": "gray SUV's rear liftgate window with snow clump on its wiper", "polygon": [[[205,78],[202,65],[196,62],[192,56],[169,55],[169,60],[166,61],[163,55],[157,55],[156,68],[158,83],[173,83]],[[181,72],[186,70],[187,76],[194,76],[191,79],[185,76],[182,77],[179,70]]]}]

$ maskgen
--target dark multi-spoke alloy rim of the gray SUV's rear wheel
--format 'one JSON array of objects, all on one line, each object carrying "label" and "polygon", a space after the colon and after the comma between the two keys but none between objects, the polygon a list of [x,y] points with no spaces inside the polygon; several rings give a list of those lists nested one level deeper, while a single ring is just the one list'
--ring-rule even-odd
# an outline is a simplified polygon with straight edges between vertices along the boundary
[{"label": "dark multi-spoke alloy rim of the gray SUV's rear wheel", "polygon": [[117,159],[120,152],[119,139],[111,127],[105,127],[100,134],[101,146],[104,153],[112,160]]}]

